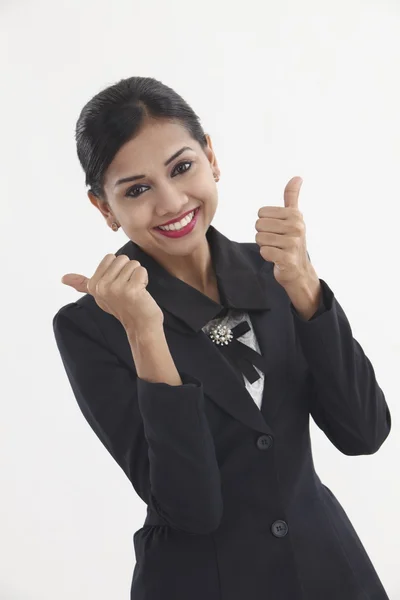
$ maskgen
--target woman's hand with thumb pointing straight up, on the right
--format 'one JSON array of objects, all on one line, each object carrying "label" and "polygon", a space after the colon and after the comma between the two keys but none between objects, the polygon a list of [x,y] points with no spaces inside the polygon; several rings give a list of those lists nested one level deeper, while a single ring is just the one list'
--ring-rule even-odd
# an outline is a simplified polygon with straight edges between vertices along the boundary
[{"label": "woman's hand with thumb pointing straight up, on the right", "polygon": [[306,280],[313,267],[307,255],[306,226],[299,211],[301,177],[285,187],[285,206],[263,206],[256,221],[256,242],[266,261],[275,263],[274,277],[283,287]]}]

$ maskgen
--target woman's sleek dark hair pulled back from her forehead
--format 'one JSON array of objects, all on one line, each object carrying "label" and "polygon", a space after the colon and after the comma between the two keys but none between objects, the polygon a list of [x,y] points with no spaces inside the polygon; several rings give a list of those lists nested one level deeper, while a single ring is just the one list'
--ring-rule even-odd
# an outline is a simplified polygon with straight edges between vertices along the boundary
[{"label": "woman's sleek dark hair pulled back from her forehead", "polygon": [[75,139],[86,185],[105,201],[104,176],[118,150],[146,119],[180,121],[204,149],[207,140],[200,119],[183,98],[151,77],[129,77],[96,94],[82,109]]}]

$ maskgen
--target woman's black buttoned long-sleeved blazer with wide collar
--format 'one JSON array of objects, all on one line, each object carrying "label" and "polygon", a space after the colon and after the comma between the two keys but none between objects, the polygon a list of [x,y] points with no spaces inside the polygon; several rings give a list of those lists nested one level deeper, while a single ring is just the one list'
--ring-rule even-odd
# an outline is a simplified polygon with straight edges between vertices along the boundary
[{"label": "woman's black buttoned long-sleeved blazer with wide collar", "polygon": [[[79,407],[147,505],[133,537],[133,600],[387,600],[314,470],[310,414],[346,455],[372,454],[391,418],[333,292],[306,321],[256,243],[207,231],[222,304],[129,241],[164,312],[181,386],[137,377],[120,322],[84,295],[53,319]],[[261,410],[202,327],[246,311],[265,366]]]}]

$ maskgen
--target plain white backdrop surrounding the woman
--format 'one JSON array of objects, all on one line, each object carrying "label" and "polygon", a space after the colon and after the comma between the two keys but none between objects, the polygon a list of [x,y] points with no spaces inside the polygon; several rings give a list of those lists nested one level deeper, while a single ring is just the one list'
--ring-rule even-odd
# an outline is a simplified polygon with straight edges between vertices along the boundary
[{"label": "plain white backdrop surrounding the woman", "polygon": [[90,277],[128,241],[86,196],[74,127],[133,75],[201,117],[221,167],[213,224],[230,239],[255,241],[258,209],[303,178],[312,262],[393,418],[361,457],[313,424],[316,468],[400,599],[399,31],[397,0],[2,0],[1,600],[129,596],[145,505],[79,412],[52,319],[80,297],[62,275]]}]

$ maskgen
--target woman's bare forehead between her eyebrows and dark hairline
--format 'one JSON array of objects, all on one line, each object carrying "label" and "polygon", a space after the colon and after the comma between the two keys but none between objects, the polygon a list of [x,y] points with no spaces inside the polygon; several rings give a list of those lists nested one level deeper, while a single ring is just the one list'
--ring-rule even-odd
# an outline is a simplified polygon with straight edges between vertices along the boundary
[{"label": "woman's bare forehead between her eyebrows and dark hairline", "polygon": [[184,145],[196,148],[198,143],[180,123],[146,122],[117,152],[107,169],[105,181],[113,184],[119,177],[147,175],[152,169],[162,168],[167,158]]}]

